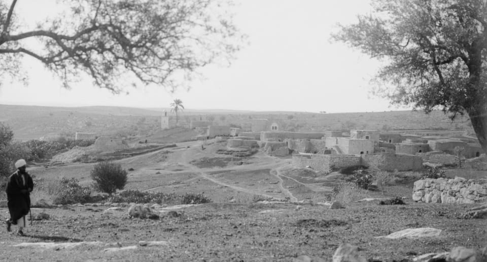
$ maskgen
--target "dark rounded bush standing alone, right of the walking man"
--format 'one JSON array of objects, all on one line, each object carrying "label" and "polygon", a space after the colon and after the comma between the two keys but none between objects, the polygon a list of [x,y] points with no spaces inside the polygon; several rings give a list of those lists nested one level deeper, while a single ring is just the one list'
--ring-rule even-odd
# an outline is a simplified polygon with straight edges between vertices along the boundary
[{"label": "dark rounded bush standing alone, right of the walking man", "polygon": [[120,164],[104,161],[93,166],[91,179],[94,181],[95,189],[111,196],[117,189],[123,189],[127,184],[127,170],[122,169]]}]

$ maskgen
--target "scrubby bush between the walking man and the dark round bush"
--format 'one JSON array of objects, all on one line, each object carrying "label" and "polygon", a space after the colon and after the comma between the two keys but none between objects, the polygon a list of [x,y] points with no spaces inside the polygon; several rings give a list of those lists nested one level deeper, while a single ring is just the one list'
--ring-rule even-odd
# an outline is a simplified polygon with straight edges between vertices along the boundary
[{"label": "scrubby bush between the walking man and the dark round bush", "polygon": [[90,200],[90,194],[90,188],[82,187],[77,179],[61,178],[58,192],[53,199],[53,204],[86,203]]}]

